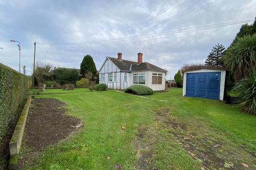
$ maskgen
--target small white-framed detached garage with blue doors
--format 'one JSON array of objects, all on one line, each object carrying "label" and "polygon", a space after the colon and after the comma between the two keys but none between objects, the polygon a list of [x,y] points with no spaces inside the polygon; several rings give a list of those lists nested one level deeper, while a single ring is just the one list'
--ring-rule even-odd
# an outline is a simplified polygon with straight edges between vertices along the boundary
[{"label": "small white-framed detached garage with blue doors", "polygon": [[223,100],[225,70],[199,69],[183,73],[183,96]]}]

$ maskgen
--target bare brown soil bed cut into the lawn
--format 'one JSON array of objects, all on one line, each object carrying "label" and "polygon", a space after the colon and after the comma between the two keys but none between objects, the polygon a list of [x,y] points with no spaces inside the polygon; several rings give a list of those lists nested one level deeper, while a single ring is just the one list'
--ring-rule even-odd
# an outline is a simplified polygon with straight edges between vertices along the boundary
[{"label": "bare brown soil bed cut into the lawn", "polygon": [[19,168],[33,164],[45,147],[75,131],[79,119],[66,114],[65,103],[53,98],[35,98],[30,106]]}]

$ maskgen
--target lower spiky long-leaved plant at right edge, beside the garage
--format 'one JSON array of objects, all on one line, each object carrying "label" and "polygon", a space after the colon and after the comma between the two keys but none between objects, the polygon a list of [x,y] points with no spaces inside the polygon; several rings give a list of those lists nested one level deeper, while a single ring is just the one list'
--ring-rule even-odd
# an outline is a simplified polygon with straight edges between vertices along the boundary
[{"label": "lower spiky long-leaved plant at right edge, beside the garage", "polygon": [[236,83],[233,91],[237,94],[239,106],[247,113],[256,114],[256,67],[253,67],[248,77]]}]

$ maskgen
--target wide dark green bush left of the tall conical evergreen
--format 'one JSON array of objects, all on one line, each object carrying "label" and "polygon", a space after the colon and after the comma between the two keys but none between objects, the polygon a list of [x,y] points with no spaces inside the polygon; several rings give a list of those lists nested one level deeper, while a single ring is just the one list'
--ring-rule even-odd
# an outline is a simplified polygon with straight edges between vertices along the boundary
[{"label": "wide dark green bush left of the tall conical evergreen", "polygon": [[75,84],[79,74],[75,69],[58,68],[54,70],[54,80],[63,84]]}]

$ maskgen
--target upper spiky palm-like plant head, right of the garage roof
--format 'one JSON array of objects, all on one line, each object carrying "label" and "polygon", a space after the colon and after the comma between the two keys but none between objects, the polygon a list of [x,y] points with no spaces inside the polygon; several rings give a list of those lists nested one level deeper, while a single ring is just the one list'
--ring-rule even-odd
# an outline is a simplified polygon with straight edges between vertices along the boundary
[{"label": "upper spiky palm-like plant head, right of the garage roof", "polygon": [[256,34],[237,38],[222,57],[225,67],[239,80],[249,75],[251,68],[256,65]]}]

